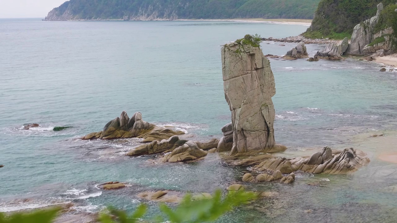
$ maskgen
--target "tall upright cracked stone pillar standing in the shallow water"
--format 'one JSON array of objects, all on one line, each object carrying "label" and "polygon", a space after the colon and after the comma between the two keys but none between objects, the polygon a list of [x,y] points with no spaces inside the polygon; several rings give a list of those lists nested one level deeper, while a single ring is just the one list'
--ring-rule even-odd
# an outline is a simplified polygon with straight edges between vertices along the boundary
[{"label": "tall upright cracked stone pillar standing in the shallow water", "polygon": [[274,141],[272,96],[276,88],[269,60],[251,44],[232,42],[221,52],[225,99],[233,128],[230,155],[285,150]]}]

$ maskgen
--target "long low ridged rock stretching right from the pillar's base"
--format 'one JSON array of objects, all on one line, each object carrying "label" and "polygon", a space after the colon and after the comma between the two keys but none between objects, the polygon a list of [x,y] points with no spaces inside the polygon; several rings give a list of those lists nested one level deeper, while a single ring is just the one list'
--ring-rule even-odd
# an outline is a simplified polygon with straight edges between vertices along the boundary
[{"label": "long low ridged rock stretching right from the pillar's base", "polygon": [[310,157],[293,159],[273,158],[265,160],[254,167],[257,171],[280,171],[292,173],[297,170],[309,173],[347,174],[357,171],[369,163],[366,154],[353,148],[332,152],[330,147],[324,147]]}]

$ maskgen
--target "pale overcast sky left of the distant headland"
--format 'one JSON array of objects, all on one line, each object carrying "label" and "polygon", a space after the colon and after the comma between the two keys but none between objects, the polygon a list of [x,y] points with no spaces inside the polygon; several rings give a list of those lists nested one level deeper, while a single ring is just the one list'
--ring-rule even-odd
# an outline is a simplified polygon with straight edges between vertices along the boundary
[{"label": "pale overcast sky left of the distant headland", "polygon": [[0,18],[44,18],[66,0],[0,0]]}]

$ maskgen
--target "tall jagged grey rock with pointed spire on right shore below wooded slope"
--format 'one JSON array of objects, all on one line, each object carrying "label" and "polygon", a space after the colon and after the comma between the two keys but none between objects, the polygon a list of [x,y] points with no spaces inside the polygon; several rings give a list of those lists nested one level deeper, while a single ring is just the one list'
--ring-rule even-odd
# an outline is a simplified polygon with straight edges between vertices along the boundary
[{"label": "tall jagged grey rock with pointed spire on right shore below wooded slope", "polygon": [[[385,51],[391,50],[391,40],[389,36],[393,33],[393,29],[388,27],[375,33],[376,24],[379,22],[380,13],[383,10],[383,4],[378,4],[378,11],[376,15],[364,22],[357,24],[353,29],[351,36],[351,43],[347,48],[345,55],[355,56],[383,56],[387,54]],[[384,41],[368,46],[376,38],[384,38]]]}]

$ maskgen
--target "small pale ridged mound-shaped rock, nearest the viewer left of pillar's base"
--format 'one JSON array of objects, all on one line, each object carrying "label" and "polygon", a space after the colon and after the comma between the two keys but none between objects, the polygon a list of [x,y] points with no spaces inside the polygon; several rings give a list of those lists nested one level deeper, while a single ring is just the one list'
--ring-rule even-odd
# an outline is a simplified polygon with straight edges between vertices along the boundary
[{"label": "small pale ridged mound-shaped rock, nearest the viewer left of pillar's base", "polygon": [[207,152],[198,148],[198,145],[193,141],[185,142],[182,146],[175,148],[172,152],[166,154],[162,162],[181,162],[197,160],[198,158],[207,156]]}]

